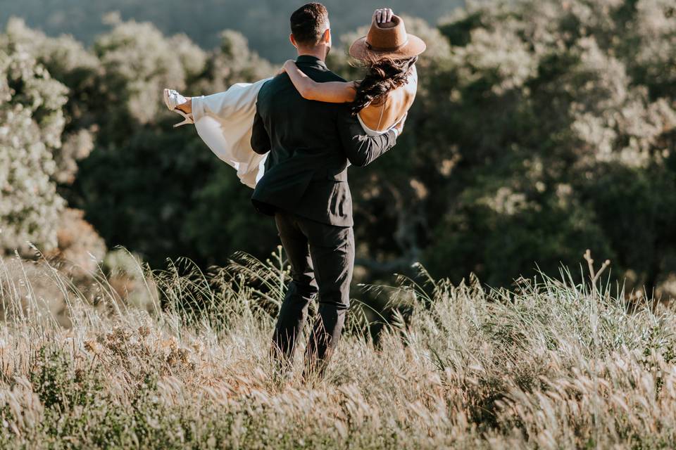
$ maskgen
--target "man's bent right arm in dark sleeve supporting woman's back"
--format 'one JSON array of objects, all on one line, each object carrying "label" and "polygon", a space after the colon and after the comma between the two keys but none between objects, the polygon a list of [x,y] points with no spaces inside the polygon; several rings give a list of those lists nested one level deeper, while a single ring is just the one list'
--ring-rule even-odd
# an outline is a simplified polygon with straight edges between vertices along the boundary
[{"label": "man's bent right arm in dark sleeve supporting woman's back", "polygon": [[356,166],[369,165],[396,144],[394,129],[380,136],[368,136],[361,124],[346,111],[339,114],[338,133],[347,159]]}]

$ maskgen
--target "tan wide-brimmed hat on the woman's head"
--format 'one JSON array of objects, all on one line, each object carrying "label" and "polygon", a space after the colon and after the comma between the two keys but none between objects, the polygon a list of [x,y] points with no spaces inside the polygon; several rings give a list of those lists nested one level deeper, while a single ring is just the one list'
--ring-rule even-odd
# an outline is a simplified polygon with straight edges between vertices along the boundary
[{"label": "tan wide-brimmed hat on the woman's head", "polygon": [[350,46],[350,56],[361,60],[405,59],[420,55],[425,48],[425,41],[408,34],[403,19],[393,15],[386,23],[377,23],[374,18],[368,34]]}]

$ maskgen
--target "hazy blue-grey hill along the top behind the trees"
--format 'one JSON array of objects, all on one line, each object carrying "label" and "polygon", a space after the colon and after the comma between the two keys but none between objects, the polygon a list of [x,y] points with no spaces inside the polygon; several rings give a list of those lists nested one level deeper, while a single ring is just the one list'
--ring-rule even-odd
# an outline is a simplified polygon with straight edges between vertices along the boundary
[{"label": "hazy blue-grey hill along the top behind the trees", "polygon": [[[8,18],[24,18],[27,25],[47,34],[72,34],[92,44],[96,34],[109,27],[101,18],[119,11],[123,20],[152,22],[165,34],[184,32],[202,48],[218,45],[218,34],[237,30],[249,39],[251,49],[273,62],[292,56],[288,45],[288,18],[303,0],[0,0],[0,25]],[[332,13],[332,30],[336,37],[368,23],[376,6],[391,7],[437,23],[463,0],[390,0],[384,4],[362,0],[324,0]]]}]

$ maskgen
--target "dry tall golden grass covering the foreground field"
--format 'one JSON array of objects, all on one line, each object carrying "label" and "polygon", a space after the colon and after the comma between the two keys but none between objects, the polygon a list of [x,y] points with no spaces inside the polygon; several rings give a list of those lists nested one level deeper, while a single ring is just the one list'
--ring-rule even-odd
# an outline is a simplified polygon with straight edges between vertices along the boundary
[{"label": "dry tall golden grass covering the foreground field", "polygon": [[[305,385],[280,381],[267,357],[279,261],[146,272],[140,308],[104,276],[85,295],[46,264],[11,265],[0,265],[2,448],[676,445],[674,311],[627,311],[604,286],[403,281],[411,316],[375,345],[355,309],[327,377]],[[68,320],[52,314],[48,281]]]}]

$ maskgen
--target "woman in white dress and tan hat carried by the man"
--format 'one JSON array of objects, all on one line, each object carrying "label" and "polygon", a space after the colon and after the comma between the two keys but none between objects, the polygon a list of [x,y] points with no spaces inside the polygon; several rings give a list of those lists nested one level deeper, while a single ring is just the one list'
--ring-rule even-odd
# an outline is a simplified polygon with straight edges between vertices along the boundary
[{"label": "woman in white dress and tan hat carried by the man", "polygon": [[[287,72],[303,98],[328,103],[353,103],[352,111],[364,132],[371,136],[401,127],[415,100],[418,74],[415,62],[425,51],[422,39],[406,33],[403,20],[389,8],[373,13],[368,35],[350,47],[350,56],[361,61],[367,74],[358,82],[317,83],[289,60]],[[250,146],[256,96],[268,79],[235,84],[212,96],[185,98],[165,89],[167,107],[184,117],[176,124],[194,123],[200,137],[221,160],[237,169],[242,183],[253,187],[263,174],[265,156]]]}]

